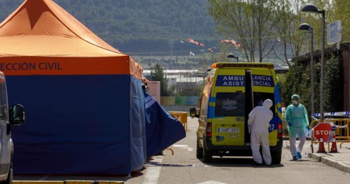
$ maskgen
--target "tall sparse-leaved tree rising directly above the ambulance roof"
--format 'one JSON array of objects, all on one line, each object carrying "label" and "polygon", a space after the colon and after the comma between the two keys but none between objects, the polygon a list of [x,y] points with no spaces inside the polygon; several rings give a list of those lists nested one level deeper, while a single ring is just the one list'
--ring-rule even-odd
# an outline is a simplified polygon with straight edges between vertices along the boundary
[{"label": "tall sparse-leaved tree rising directly above the ambulance roof", "polygon": [[[214,17],[219,32],[229,38],[241,39],[248,62],[262,62],[272,51],[270,40],[280,22],[279,14],[286,10],[285,0],[209,0],[209,14]],[[283,7],[283,8],[281,8]],[[234,36],[236,34],[236,36]],[[258,59],[255,52],[258,51]]]}]

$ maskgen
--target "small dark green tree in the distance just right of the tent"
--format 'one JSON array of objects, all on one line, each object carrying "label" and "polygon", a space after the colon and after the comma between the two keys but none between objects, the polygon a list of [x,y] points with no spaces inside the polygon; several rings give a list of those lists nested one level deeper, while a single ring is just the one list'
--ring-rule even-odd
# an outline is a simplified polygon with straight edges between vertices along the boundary
[{"label": "small dark green tree in the distance just right of the tent", "polygon": [[151,67],[151,76],[152,81],[160,81],[160,95],[168,96],[168,80],[164,77],[164,69],[159,63]]}]

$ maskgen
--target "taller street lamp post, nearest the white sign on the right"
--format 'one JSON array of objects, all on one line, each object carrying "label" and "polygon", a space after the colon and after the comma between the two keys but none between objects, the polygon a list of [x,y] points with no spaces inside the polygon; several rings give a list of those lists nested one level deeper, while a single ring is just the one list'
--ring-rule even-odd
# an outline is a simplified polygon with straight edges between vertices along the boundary
[{"label": "taller street lamp post, nearest the white sign on the right", "polygon": [[321,37],[321,84],[320,84],[320,119],[323,120],[323,91],[324,91],[324,32],[325,32],[325,10],[319,11],[314,4],[306,4],[302,12],[322,14],[322,37]]}]

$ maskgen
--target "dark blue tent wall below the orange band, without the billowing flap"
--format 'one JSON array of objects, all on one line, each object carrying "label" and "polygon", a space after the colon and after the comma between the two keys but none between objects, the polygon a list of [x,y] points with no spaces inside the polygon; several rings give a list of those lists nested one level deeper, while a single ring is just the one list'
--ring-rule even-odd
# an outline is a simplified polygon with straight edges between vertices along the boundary
[{"label": "dark blue tent wall below the orange band, without the billowing flap", "polygon": [[9,104],[26,110],[25,124],[12,127],[14,173],[109,175],[142,168],[145,152],[131,153],[131,139],[137,150],[146,149],[143,120],[138,115],[130,120],[128,96],[137,87],[131,83],[139,82],[131,80],[130,75],[7,76]]}]

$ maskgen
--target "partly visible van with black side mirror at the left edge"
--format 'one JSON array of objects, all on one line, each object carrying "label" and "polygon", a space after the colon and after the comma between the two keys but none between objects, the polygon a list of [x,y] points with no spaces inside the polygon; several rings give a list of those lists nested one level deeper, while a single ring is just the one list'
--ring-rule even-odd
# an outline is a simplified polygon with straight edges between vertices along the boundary
[{"label": "partly visible van with black side mirror at the left edge", "polygon": [[0,71],[0,184],[12,183],[13,142],[11,125],[22,125],[25,120],[23,106],[14,104],[8,108],[5,75]]}]

